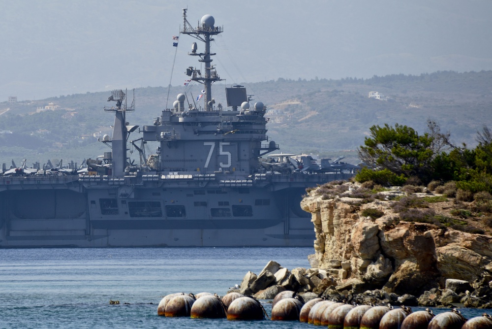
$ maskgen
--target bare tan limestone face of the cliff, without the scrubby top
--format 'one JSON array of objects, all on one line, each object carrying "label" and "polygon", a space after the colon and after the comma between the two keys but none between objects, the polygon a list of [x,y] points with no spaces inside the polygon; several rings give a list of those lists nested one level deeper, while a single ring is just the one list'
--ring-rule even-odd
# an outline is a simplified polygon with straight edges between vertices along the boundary
[{"label": "bare tan limestone face of the cliff, without the scrubby top", "polygon": [[[491,236],[400,221],[390,199],[363,203],[346,197],[326,198],[313,190],[301,202],[311,213],[316,234],[309,263],[319,274],[327,273],[335,280],[338,291],[350,287],[345,283],[353,280],[365,288],[382,287],[400,295],[444,289],[447,279],[492,280]],[[374,220],[362,215],[365,209],[383,215]],[[292,274],[301,286],[314,284]],[[446,298],[455,301],[457,297],[449,294]]]}]

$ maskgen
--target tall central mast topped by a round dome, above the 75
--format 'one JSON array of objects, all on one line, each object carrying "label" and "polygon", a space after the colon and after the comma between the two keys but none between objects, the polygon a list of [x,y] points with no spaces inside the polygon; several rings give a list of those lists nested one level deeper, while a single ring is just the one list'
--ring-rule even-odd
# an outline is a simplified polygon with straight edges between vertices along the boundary
[{"label": "tall central mast topped by a round dome, above the 75", "polygon": [[214,66],[211,64],[212,59],[211,56],[215,55],[215,53],[210,52],[210,42],[214,41],[213,36],[223,32],[223,28],[215,27],[215,19],[211,15],[205,15],[200,20],[200,25],[196,28],[192,28],[191,24],[186,19],[186,8],[183,8],[183,21],[184,27],[181,33],[188,34],[196,38],[197,40],[205,43],[205,52],[197,53],[197,45],[196,42],[193,42],[191,46],[191,53],[188,53],[190,56],[199,56],[200,59],[198,62],[202,62],[205,64],[205,72],[202,75],[200,69],[196,67],[188,67],[186,69],[186,74],[191,77],[191,80],[201,83],[204,86],[205,90],[205,111],[212,111],[214,108],[214,99],[212,98],[212,84],[215,81],[220,81],[220,77],[217,74],[217,71],[214,69]]}]

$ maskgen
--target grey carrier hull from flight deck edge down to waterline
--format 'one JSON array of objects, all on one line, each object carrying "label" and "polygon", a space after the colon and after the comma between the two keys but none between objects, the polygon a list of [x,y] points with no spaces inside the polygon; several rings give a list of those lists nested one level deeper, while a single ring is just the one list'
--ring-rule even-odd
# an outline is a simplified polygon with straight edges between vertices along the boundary
[{"label": "grey carrier hull from flight deck edge down to waterline", "polygon": [[305,188],[351,175],[300,174],[297,182],[264,176],[249,187],[186,178],[126,177],[129,184],[115,186],[103,177],[0,177],[0,248],[312,246],[313,225],[299,205]]}]

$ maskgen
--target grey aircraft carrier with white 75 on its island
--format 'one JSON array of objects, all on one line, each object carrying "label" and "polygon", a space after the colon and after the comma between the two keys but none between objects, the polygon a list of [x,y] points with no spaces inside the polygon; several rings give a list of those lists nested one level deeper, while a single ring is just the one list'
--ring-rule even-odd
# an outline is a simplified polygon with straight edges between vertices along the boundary
[{"label": "grey aircraft carrier with white 75 on its island", "polygon": [[181,34],[204,45],[198,52],[193,43],[189,53],[203,72],[186,69],[203,85],[204,108],[185,106],[186,95],[178,95],[139,129],[138,140],[156,144],[156,154],[146,158],[130,140],[140,152],[134,165],[126,154],[138,129],[126,123],[134,106],[113,91],[108,101],[116,105],[104,108],[114,114],[113,135],[101,139],[111,152],[102,159],[88,159],[82,170],[18,169],[0,177],[0,247],[312,246],[313,224],[300,207],[306,188],[348,179],[353,170],[268,157],[279,147],[267,138],[263,103],[250,106],[243,86],[226,88],[228,109],[212,98],[221,79],[210,45],[223,29],[210,15],[196,28],[186,9],[183,17]]}]

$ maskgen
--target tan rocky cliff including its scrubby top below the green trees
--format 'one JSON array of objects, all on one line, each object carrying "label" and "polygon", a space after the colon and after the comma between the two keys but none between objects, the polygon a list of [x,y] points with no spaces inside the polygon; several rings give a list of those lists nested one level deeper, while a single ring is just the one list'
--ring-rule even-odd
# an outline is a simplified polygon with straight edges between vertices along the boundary
[{"label": "tan rocky cliff including its scrubby top below the green trees", "polygon": [[423,192],[341,182],[309,191],[301,204],[316,232],[311,266],[331,273],[338,290],[353,292],[418,296],[444,289],[446,279],[490,286],[492,236],[477,227],[480,213],[471,216],[470,204],[455,198],[416,191]]}]

